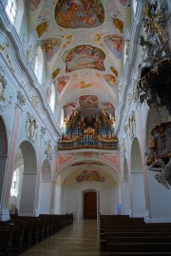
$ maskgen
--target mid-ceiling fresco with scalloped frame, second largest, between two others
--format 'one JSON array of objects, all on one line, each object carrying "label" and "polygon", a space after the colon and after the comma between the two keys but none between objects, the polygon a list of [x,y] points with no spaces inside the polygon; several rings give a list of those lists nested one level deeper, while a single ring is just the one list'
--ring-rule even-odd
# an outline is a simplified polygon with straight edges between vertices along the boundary
[{"label": "mid-ceiling fresco with scalloped frame, second largest, between two others", "polygon": [[105,70],[104,51],[89,45],[81,45],[73,49],[66,50],[62,59],[66,62],[66,72],[71,72],[76,69]]}]

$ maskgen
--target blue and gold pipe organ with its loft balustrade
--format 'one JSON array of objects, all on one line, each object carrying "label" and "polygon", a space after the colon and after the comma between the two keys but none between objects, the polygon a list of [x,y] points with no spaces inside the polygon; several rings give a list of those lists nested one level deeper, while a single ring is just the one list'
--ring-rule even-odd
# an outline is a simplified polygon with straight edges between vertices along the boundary
[{"label": "blue and gold pipe organ with its loft balustrade", "polygon": [[65,118],[58,149],[117,149],[118,138],[114,134],[114,128],[114,116],[104,110],[94,116],[85,116],[74,110]]}]

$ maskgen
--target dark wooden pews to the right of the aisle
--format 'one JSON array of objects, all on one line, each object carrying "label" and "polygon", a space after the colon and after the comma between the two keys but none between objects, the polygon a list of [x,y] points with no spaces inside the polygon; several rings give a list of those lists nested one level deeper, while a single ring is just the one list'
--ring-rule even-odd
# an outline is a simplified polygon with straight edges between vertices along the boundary
[{"label": "dark wooden pews to the right of the aisle", "polygon": [[101,256],[171,255],[171,223],[128,215],[100,216]]}]

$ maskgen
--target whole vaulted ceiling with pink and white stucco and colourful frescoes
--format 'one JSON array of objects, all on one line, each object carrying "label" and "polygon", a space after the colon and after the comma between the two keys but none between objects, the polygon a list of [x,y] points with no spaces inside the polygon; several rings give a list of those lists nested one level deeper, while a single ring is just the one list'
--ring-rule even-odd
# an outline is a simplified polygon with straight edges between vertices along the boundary
[{"label": "whole vaulted ceiling with pink and white stucco and colourful frescoes", "polygon": [[47,85],[65,114],[114,114],[130,13],[127,0],[28,1],[28,49],[43,49]]}]

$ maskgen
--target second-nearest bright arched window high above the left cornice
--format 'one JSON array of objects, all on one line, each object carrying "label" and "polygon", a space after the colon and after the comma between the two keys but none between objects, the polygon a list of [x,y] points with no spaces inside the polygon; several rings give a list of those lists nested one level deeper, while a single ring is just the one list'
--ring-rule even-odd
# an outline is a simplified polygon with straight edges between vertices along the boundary
[{"label": "second-nearest bright arched window high above the left cornice", "polygon": [[37,76],[37,80],[40,84],[42,82],[43,69],[44,69],[44,54],[41,47],[38,47],[37,56],[35,59],[35,65],[34,65],[34,73]]}]

